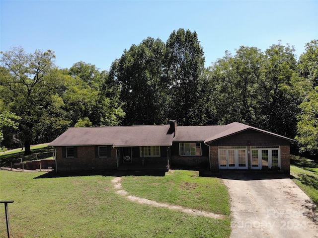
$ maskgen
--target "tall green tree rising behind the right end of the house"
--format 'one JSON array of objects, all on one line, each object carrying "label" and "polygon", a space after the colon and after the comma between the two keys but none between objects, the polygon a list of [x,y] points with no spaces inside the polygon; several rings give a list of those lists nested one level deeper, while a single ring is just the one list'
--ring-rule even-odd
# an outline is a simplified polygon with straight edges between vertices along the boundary
[{"label": "tall green tree rising behind the right end of the house", "polygon": [[296,74],[295,49],[274,44],[265,51],[264,80],[259,83],[263,111],[263,128],[294,138],[297,124],[298,92],[293,90],[299,78]]}]

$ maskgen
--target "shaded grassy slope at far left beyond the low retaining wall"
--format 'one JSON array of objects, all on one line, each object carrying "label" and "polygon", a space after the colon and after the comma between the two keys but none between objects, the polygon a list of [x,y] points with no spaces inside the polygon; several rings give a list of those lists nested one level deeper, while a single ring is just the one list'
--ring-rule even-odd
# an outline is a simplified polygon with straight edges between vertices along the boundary
[{"label": "shaded grassy slope at far left beyond the low retaining wall", "polygon": [[48,147],[47,144],[31,146],[30,149],[31,155],[28,156],[24,156],[24,148],[23,151],[21,151],[21,149],[16,149],[0,154],[0,165],[9,167],[11,162],[19,163],[21,162],[21,160],[23,162],[31,161],[33,159],[36,159],[36,154],[38,154],[38,159],[53,158],[54,149],[52,147]]}]

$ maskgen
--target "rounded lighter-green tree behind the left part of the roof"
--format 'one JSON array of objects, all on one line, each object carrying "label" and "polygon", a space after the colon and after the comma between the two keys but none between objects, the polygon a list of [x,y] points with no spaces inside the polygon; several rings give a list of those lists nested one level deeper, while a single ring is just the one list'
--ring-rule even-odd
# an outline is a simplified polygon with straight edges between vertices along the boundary
[{"label": "rounded lighter-green tree behind the left part of the roof", "polygon": [[116,126],[124,116],[119,84],[95,65],[78,62],[68,70],[67,90],[62,95],[71,126]]}]

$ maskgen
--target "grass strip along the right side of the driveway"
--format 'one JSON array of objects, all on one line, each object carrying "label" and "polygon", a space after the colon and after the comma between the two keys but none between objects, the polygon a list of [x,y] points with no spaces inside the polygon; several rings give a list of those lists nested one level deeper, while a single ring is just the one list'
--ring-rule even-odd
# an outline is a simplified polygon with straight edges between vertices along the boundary
[{"label": "grass strip along the right side of the driveway", "polygon": [[293,181],[318,206],[318,161],[300,156],[291,156]]}]

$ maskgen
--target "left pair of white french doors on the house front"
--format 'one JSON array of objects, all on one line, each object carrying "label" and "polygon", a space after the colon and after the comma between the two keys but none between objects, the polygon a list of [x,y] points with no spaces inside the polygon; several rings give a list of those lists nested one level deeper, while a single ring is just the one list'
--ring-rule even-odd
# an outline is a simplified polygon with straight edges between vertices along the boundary
[{"label": "left pair of white french doors on the house front", "polygon": [[219,168],[247,169],[247,148],[219,147]]}]

